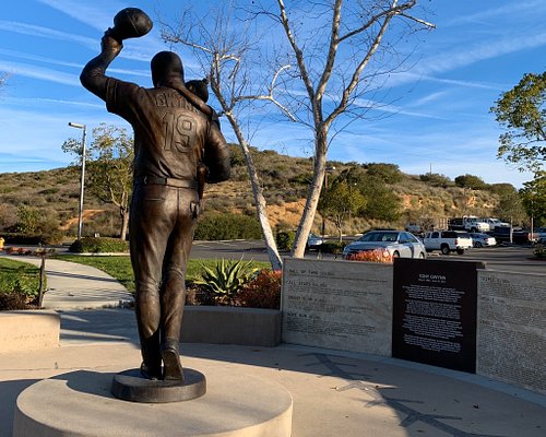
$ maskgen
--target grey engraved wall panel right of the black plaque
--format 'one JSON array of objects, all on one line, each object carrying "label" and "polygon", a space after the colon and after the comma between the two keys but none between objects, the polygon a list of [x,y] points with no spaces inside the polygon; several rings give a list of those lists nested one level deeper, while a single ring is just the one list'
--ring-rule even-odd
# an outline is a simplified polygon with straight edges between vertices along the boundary
[{"label": "grey engraved wall panel right of the black plaque", "polygon": [[546,393],[546,276],[478,274],[477,373]]}]

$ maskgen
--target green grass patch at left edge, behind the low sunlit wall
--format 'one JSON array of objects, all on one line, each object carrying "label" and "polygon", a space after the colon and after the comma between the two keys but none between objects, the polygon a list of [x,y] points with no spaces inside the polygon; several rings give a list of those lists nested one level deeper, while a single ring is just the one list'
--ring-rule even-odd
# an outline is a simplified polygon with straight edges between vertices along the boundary
[{"label": "green grass patch at left edge, behind the low sunlit wall", "polygon": [[0,293],[20,290],[28,297],[38,294],[39,268],[27,262],[0,258]]}]

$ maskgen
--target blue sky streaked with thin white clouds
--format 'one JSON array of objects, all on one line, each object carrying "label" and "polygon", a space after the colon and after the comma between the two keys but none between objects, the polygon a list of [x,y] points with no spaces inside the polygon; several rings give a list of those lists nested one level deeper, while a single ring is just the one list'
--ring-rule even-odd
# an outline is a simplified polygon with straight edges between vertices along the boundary
[{"label": "blue sky streaked with thin white clouds", "polygon": [[[138,7],[154,20],[175,16],[176,0],[19,0],[5,2],[0,15],[0,173],[32,172],[68,165],[61,151],[81,131],[100,122],[127,127],[106,113],[104,104],[79,81],[82,67],[97,55],[104,31],[122,8]],[[203,0],[203,8],[209,1]],[[212,4],[213,2],[211,2]],[[546,62],[544,0],[420,1],[437,29],[418,34],[413,62],[385,83],[393,103],[380,119],[351,125],[330,146],[329,158],[393,163],[408,174],[432,169],[454,178],[463,174],[486,182],[521,187],[532,175],[497,160],[500,127],[489,108],[526,72],[542,72]],[[126,42],[109,74],[151,86],[151,57],[167,49],[159,26]],[[182,54],[186,78],[201,78],[191,56]],[[277,119],[276,119],[277,120]],[[227,123],[228,140],[234,140]],[[297,140],[295,140],[297,139]],[[312,141],[288,121],[263,122],[253,145],[293,156],[311,156]]]}]

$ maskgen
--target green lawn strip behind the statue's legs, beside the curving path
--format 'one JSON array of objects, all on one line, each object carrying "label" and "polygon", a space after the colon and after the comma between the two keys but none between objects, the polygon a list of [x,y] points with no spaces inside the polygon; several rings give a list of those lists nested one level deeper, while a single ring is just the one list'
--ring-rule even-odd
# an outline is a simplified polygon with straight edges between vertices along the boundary
[{"label": "green lawn strip behind the statue's legs, beside the curving path", "polygon": [[[104,272],[108,273],[110,276],[116,277],[123,286],[130,292],[134,292],[134,280],[133,271],[131,268],[131,260],[129,257],[118,256],[79,256],[79,255],[56,255],[54,258],[63,261],[79,262],[81,264],[92,265]],[[203,271],[202,265],[213,268],[216,265],[218,260],[210,259],[190,259],[188,261],[188,270],[186,279],[188,281],[194,280],[201,276]],[[47,262],[47,261],[46,261]],[[260,269],[271,269],[269,262],[254,261],[253,264]]]}]

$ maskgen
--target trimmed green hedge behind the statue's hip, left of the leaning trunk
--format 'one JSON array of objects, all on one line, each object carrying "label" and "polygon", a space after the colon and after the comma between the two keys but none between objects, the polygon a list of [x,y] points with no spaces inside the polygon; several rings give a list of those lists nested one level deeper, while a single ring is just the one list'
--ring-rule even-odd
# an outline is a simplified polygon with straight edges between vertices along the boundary
[{"label": "trimmed green hedge behind the statue's hip, left of the leaning trunk", "polygon": [[260,239],[262,231],[258,218],[241,214],[207,214],[199,220],[195,239]]}]

